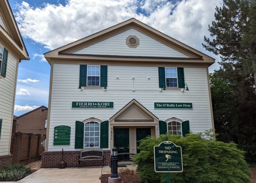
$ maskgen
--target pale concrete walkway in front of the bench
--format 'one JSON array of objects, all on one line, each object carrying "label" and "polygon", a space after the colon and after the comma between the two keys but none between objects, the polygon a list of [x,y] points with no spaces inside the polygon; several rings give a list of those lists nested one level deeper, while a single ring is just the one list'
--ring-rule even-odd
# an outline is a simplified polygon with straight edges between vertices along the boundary
[{"label": "pale concrete walkway in front of the bench", "polygon": [[[110,168],[109,168],[110,169]],[[86,168],[40,168],[33,174],[17,181],[18,183],[42,183],[42,182],[83,182],[83,183],[101,183],[102,167]]]}]

